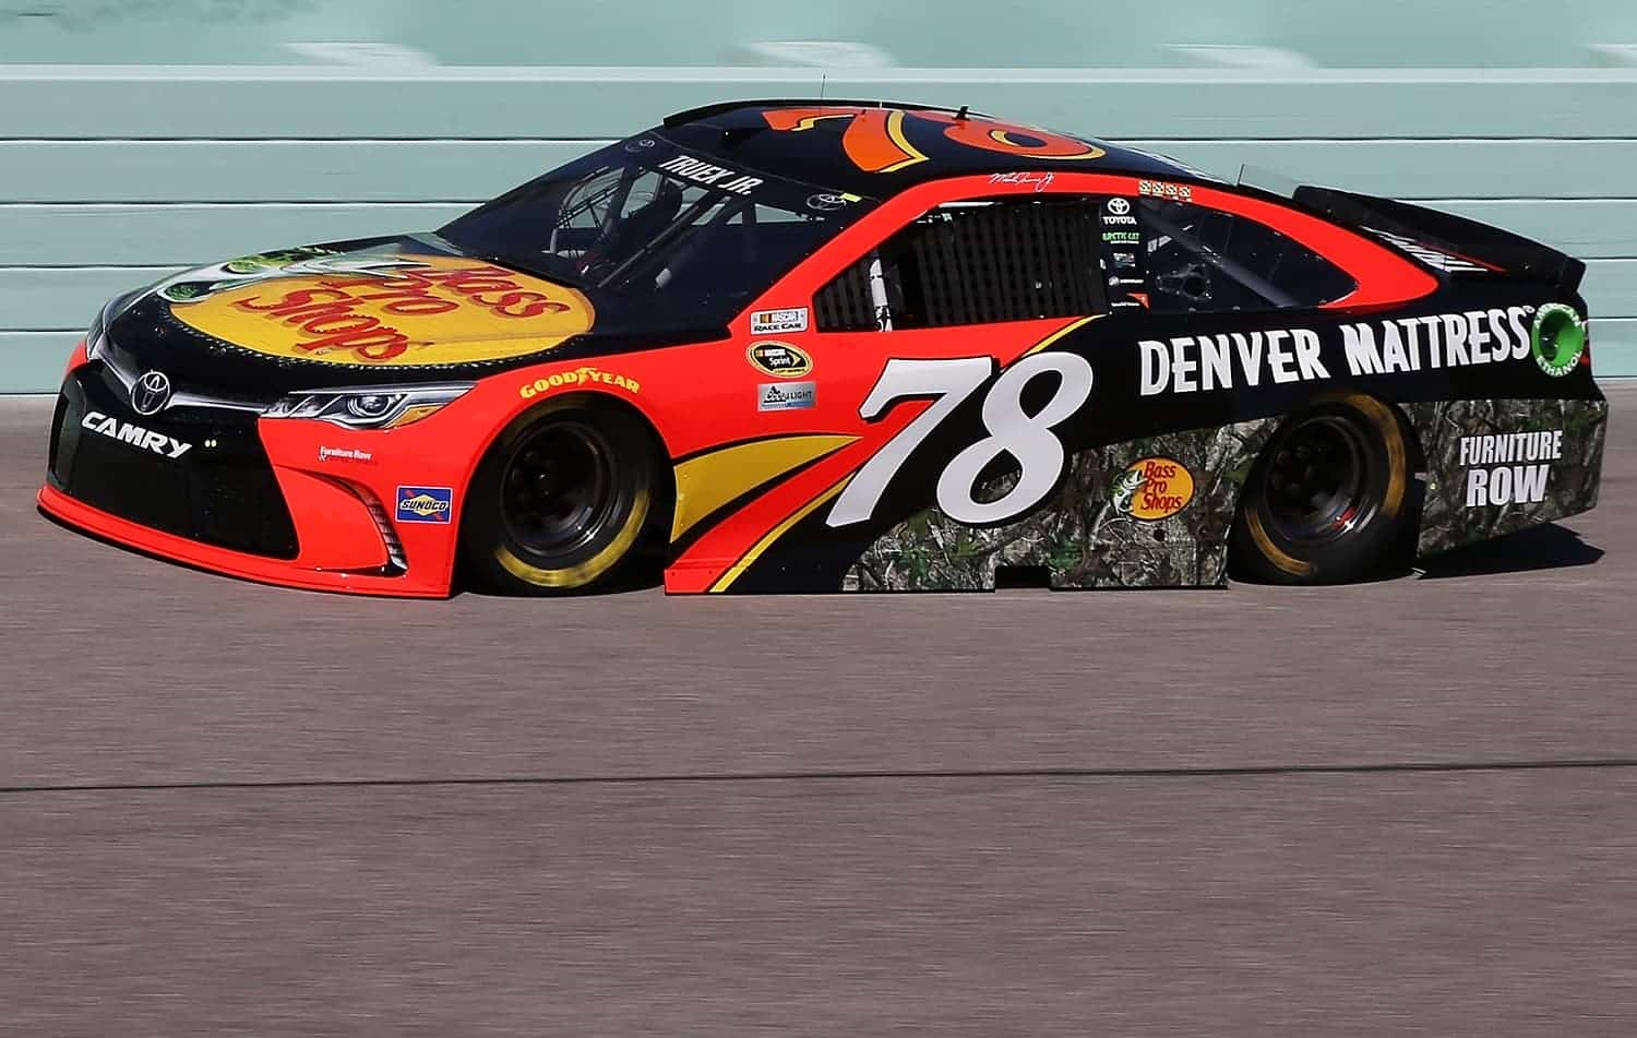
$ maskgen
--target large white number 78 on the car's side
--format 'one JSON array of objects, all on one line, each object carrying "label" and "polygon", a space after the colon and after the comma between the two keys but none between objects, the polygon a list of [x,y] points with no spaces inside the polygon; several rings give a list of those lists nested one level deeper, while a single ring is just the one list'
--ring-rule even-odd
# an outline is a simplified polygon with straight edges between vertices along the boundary
[{"label": "large white number 78 on the car's side", "polygon": [[[858,470],[825,522],[837,527],[869,519],[892,476],[915,449],[994,372],[992,357],[889,360],[876,388],[859,404],[858,416],[876,421],[894,403],[912,398],[930,396],[931,406]],[[1046,372],[1058,373],[1058,391],[1036,414],[1028,414],[1023,411],[1023,390]],[[949,458],[938,476],[938,508],[956,522],[990,526],[1015,519],[1044,501],[1067,463],[1062,440],[1051,429],[1079,411],[1090,395],[1092,365],[1079,354],[1035,354],[1013,363],[984,396],[982,416],[989,436]],[[979,501],[977,476],[1003,454],[1018,460],[1021,472],[1017,485],[994,501]]]}]

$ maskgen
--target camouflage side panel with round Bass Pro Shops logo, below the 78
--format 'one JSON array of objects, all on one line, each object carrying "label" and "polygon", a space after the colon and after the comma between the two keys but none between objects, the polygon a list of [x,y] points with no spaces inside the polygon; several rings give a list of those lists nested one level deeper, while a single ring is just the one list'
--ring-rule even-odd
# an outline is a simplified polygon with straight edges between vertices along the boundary
[{"label": "camouflage side panel with round Bass Pro Shops logo, below the 78", "polygon": [[[995,586],[997,566],[1044,566],[1053,588],[1221,584],[1239,488],[1275,426],[1257,419],[1080,452],[1053,498],[1007,526],[963,526],[936,508],[917,512],[869,545],[843,589],[984,591]],[[1143,460],[1156,465],[1133,470]],[[1170,460],[1184,472],[1157,478]],[[995,480],[977,496],[992,501],[1015,480]],[[1152,493],[1169,483],[1177,494],[1184,480],[1192,486],[1180,511]]]}]

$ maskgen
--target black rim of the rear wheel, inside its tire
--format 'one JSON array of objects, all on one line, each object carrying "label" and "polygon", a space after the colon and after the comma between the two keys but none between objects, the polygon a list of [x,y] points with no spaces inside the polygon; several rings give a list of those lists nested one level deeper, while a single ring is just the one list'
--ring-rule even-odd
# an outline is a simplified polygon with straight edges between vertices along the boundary
[{"label": "black rim of the rear wheel, inside its tire", "polygon": [[1365,434],[1346,417],[1318,414],[1280,432],[1262,478],[1264,514],[1297,547],[1346,537],[1375,514]]}]

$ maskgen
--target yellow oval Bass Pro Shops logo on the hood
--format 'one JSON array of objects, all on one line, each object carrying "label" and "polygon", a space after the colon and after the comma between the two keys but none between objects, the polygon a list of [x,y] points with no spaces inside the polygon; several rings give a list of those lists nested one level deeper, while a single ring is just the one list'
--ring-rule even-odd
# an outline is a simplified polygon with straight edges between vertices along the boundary
[{"label": "yellow oval Bass Pro Shops logo on the hood", "polygon": [[298,269],[172,298],[172,313],[270,357],[372,367],[537,354],[593,323],[591,303],[573,288],[480,260],[357,255]]}]

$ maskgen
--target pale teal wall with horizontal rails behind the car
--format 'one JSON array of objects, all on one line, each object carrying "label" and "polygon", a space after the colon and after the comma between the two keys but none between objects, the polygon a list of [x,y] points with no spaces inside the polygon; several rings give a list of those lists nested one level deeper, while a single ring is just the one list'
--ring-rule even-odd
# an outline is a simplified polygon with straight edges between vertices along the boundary
[{"label": "pale teal wall with horizontal rails behind the car", "polygon": [[[5,20],[3,5],[18,2],[0,0],[0,59],[18,59],[18,36],[3,31],[26,21]],[[288,7],[291,18],[324,11]],[[1637,23],[1627,7],[1637,5],[1598,10],[1611,25]],[[393,5],[357,10],[386,18]],[[622,18],[611,25],[642,28]],[[670,18],[655,15],[660,31]],[[1282,46],[1318,33],[1305,16],[1297,23]],[[67,38],[61,25],[51,33],[34,43],[49,51]],[[205,34],[237,38],[221,25]],[[0,65],[0,391],[52,390],[105,298],[182,265],[432,228],[670,111],[820,90],[964,103],[1136,142],[1229,178],[1247,162],[1496,223],[1590,262],[1596,370],[1637,375],[1637,67],[1324,69],[1254,51],[1233,61],[1259,67],[449,67],[432,61],[434,39],[417,38],[419,59],[355,65]],[[642,39],[653,46],[652,33]],[[514,54],[519,44],[496,46]],[[820,51],[833,57],[835,46]],[[1539,46],[1554,57],[1586,52],[1562,34]],[[738,52],[748,62],[768,51]],[[1609,54],[1614,62],[1617,47]]]}]

